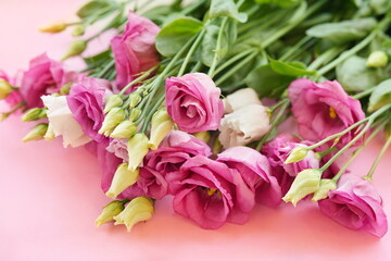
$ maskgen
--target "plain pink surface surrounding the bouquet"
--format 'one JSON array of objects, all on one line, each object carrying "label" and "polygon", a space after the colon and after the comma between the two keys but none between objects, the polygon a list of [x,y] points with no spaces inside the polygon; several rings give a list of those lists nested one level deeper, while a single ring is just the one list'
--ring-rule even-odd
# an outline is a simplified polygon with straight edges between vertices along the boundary
[{"label": "plain pink surface surrounding the bouquet", "polygon": [[[37,28],[74,21],[81,2],[1,0],[0,67],[14,74],[43,51],[59,59],[70,32],[50,36]],[[204,231],[176,215],[169,198],[131,233],[123,226],[96,228],[93,221],[109,202],[96,159],[83,148],[63,149],[61,140],[22,144],[28,128],[17,116],[0,123],[0,260],[391,260],[391,233],[378,240],[349,231],[312,203],[257,206],[245,225]],[[375,140],[352,171],[366,174],[381,145]],[[389,216],[390,167],[389,150],[375,174]]]}]

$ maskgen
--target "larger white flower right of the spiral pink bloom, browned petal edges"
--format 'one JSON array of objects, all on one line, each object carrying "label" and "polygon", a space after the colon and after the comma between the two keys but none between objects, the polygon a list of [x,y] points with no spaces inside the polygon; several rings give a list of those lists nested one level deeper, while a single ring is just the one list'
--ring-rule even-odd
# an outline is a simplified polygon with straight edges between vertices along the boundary
[{"label": "larger white flower right of the spiral pink bloom, browned petal edges", "polygon": [[218,140],[225,149],[243,146],[260,139],[269,129],[267,109],[260,104],[249,104],[223,117]]}]

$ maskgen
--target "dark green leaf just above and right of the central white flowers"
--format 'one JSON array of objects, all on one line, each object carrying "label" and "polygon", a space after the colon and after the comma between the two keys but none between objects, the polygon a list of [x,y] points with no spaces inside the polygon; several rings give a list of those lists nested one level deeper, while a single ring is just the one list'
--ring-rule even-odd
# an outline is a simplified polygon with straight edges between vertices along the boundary
[{"label": "dark green leaf just above and right of the central white flowers", "polygon": [[293,79],[295,77],[278,74],[270,64],[266,64],[250,72],[244,83],[261,97],[280,98]]}]

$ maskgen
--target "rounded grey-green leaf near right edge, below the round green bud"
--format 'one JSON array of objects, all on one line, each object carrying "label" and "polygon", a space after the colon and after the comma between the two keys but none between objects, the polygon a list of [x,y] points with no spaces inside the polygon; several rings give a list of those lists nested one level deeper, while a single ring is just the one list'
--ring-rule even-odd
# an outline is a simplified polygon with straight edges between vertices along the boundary
[{"label": "rounded grey-green leaf near right edge, below the round green bud", "polygon": [[337,66],[337,80],[348,91],[363,91],[382,80],[378,70],[365,65],[366,59],[350,57]]}]

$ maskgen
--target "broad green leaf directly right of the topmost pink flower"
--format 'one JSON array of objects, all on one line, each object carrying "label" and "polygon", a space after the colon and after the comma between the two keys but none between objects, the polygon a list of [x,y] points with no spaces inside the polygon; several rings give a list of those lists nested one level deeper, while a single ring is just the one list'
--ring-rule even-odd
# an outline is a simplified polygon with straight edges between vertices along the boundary
[{"label": "broad green leaf directly right of the topmost pink flower", "polygon": [[202,28],[203,23],[199,20],[192,17],[176,18],[156,35],[156,49],[164,57],[173,57]]}]

